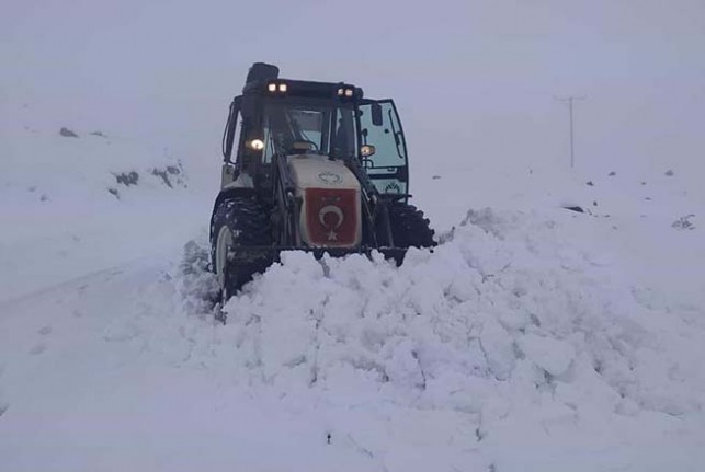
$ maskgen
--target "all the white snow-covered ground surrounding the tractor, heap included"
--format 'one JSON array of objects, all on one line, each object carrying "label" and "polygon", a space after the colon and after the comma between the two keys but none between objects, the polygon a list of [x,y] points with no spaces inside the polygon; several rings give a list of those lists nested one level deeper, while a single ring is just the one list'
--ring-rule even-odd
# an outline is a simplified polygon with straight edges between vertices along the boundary
[{"label": "all the white snow-covered ground surrounding the tractor, heap included", "polygon": [[286,254],[223,325],[216,157],[32,116],[2,135],[0,470],[703,469],[689,172],[420,164],[433,253]]}]

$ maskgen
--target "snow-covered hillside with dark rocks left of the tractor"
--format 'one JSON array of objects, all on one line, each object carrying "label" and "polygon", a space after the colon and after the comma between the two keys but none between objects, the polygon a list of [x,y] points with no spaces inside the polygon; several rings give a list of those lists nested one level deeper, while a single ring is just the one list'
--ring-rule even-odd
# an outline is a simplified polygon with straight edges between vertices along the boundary
[{"label": "snow-covered hillside with dark rocks left of the tractor", "polygon": [[168,149],[47,123],[31,105],[12,116],[0,145],[0,300],[163,251],[207,221],[208,197]]}]

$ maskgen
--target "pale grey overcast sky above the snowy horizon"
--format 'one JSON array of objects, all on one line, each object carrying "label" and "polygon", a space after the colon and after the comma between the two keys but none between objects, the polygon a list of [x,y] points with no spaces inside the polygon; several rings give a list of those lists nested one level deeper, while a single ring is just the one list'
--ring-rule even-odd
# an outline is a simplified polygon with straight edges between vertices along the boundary
[{"label": "pale grey overcast sky above the snowy horizon", "polygon": [[[705,158],[705,1],[4,0],[4,119],[217,159],[255,60],[396,100],[411,159],[621,168]],[[701,165],[701,169],[703,166]]]}]

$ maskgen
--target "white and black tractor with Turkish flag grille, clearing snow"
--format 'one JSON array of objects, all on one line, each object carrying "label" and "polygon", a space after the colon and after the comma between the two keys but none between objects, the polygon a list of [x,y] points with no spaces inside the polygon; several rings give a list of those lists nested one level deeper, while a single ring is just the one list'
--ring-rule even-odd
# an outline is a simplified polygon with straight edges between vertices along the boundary
[{"label": "white and black tractor with Turkish flag grille, clearing snow", "polygon": [[[235,152],[234,152],[235,150]],[[345,82],[278,77],[255,62],[223,136],[211,257],[221,300],[282,251],[371,255],[402,263],[433,247],[434,231],[409,205],[407,145],[391,100]]]}]

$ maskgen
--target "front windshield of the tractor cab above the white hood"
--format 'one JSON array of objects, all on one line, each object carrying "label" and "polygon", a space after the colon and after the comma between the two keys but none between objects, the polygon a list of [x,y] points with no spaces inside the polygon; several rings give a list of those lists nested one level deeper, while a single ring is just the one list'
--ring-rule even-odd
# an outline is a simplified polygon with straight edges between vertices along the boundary
[{"label": "front windshield of the tractor cab above the white hood", "polygon": [[355,136],[352,108],[283,101],[264,108],[264,162],[270,162],[274,154],[303,151],[355,157]]}]

